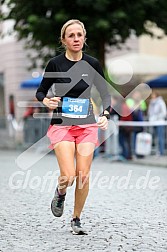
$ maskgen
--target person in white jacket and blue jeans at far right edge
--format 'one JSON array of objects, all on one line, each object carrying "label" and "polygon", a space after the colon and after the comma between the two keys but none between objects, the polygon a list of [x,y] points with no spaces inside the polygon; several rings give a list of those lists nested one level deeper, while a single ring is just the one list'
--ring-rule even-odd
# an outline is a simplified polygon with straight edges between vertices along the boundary
[{"label": "person in white jacket and blue jeans at far right edge", "polygon": [[[148,119],[150,122],[164,122],[167,116],[165,101],[157,91],[152,91],[151,99],[148,105]],[[164,155],[165,151],[165,126],[157,125],[154,127],[155,136],[158,140],[158,151]]]}]

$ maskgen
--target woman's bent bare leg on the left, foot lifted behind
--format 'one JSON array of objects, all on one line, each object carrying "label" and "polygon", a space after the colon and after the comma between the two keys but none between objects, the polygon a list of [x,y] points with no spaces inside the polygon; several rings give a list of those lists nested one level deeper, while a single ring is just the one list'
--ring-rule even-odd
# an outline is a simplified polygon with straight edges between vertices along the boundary
[{"label": "woman's bent bare leg on the left, foot lifted behind", "polygon": [[72,184],[75,178],[75,143],[62,141],[55,145],[55,154],[60,168],[60,177],[58,182],[59,192],[66,193],[67,186]]}]

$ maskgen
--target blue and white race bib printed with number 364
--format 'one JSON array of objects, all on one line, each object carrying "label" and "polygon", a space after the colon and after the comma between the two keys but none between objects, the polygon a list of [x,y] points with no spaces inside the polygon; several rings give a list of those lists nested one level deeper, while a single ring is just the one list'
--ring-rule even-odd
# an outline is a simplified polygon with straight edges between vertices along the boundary
[{"label": "blue and white race bib printed with number 364", "polygon": [[86,118],[88,116],[89,99],[63,97],[62,116],[70,118]]}]

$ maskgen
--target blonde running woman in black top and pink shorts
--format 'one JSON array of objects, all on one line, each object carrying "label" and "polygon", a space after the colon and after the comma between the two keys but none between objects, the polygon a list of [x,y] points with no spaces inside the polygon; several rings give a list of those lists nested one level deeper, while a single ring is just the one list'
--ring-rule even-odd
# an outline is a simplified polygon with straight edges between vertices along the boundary
[{"label": "blonde running woman in black top and pink shorts", "polygon": [[[83,52],[85,41],[86,30],[82,22],[73,19],[63,25],[61,43],[65,52],[48,62],[36,92],[37,99],[53,110],[47,136],[58,160],[60,176],[51,210],[54,216],[62,216],[67,187],[76,180],[71,220],[75,234],[85,234],[80,215],[89,191],[89,173],[94,148],[98,143],[98,128],[107,129],[111,101],[107,85],[101,81],[104,74],[98,60]],[[58,72],[68,72],[71,82],[66,74],[61,78],[56,77],[54,74]],[[99,76],[103,78],[99,80]],[[91,103],[93,84],[103,103],[103,112],[97,122]],[[54,97],[49,98],[47,93],[51,87]]]}]

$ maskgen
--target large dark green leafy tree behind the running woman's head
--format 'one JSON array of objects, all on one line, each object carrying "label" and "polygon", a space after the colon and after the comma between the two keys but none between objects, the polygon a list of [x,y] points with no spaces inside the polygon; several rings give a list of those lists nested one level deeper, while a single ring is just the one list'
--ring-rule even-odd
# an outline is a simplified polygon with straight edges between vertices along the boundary
[{"label": "large dark green leafy tree behind the running woman's head", "polygon": [[[9,8],[1,14],[3,20],[14,19],[19,39],[27,40],[28,47],[38,51],[37,58],[60,51],[60,29],[68,19],[80,19],[87,29],[92,55],[104,65],[105,44],[119,45],[132,30],[139,36],[152,35],[156,24],[167,32],[166,0],[2,0]],[[46,49],[49,48],[50,50]],[[35,60],[35,59],[34,59]],[[46,63],[46,62],[45,62]]]}]

